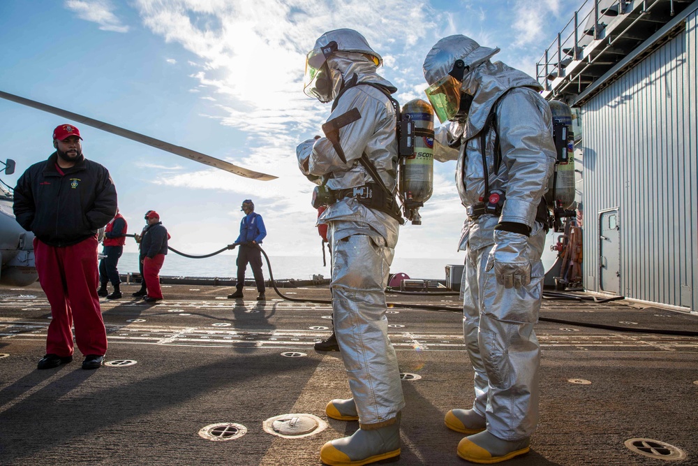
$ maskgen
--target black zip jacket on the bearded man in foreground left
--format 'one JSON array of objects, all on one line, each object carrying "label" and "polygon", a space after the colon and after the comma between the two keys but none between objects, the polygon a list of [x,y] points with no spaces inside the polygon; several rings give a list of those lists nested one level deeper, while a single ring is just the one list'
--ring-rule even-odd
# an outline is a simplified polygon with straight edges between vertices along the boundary
[{"label": "black zip jacket on the bearded man in foreground left", "polygon": [[117,189],[109,171],[82,157],[56,168],[57,153],[27,168],[15,187],[17,223],[47,245],[64,247],[95,235],[117,213]]}]

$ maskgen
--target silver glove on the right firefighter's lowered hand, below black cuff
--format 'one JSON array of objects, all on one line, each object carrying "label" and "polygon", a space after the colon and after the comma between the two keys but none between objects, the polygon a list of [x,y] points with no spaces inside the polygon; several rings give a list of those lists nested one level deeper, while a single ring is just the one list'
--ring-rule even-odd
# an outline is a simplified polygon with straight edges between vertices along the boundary
[{"label": "silver glove on the right firefighter's lowered hand, below black cuff", "polygon": [[511,231],[494,231],[494,247],[487,258],[489,272],[494,268],[497,283],[505,288],[521,288],[530,283],[528,236]]}]

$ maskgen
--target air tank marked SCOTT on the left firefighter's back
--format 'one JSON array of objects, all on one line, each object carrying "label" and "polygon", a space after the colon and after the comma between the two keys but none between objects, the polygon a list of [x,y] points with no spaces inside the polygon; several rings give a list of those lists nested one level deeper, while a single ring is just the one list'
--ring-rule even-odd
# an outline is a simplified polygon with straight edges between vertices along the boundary
[{"label": "air tank marked SCOTT on the left firefighter's back", "polygon": [[415,124],[415,152],[400,157],[400,198],[405,217],[413,225],[421,225],[419,207],[433,192],[434,115],[429,103],[414,99],[403,105],[402,117]]}]

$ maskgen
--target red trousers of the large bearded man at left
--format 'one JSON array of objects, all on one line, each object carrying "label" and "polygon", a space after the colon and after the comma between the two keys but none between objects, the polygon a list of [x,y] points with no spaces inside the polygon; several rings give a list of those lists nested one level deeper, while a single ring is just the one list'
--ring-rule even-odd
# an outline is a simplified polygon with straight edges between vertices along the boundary
[{"label": "red trousers of the large bearded man at left", "polygon": [[97,296],[97,238],[77,245],[49,246],[34,238],[34,263],[39,283],[51,305],[46,353],[61,357],[73,354],[73,332],[80,352],[107,352],[107,331]]}]

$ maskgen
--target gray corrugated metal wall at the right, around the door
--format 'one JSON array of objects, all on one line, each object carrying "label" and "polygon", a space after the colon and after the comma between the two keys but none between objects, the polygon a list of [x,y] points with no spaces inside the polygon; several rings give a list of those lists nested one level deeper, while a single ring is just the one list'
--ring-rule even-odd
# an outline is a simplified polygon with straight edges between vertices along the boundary
[{"label": "gray corrugated metal wall at the right, around the door", "polygon": [[[696,16],[581,108],[590,291],[614,293],[618,286],[621,296],[697,310]],[[621,226],[617,284],[600,263],[610,247],[600,238],[602,212],[614,208]]]}]

